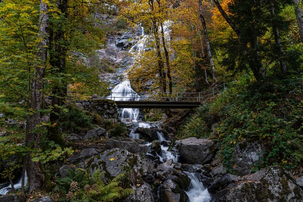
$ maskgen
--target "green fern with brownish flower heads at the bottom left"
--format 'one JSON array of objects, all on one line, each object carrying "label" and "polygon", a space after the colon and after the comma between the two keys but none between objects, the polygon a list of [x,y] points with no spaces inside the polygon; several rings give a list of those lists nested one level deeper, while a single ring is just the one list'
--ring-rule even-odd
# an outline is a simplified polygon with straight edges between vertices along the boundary
[{"label": "green fern with brownish flower heads at the bottom left", "polygon": [[103,177],[104,172],[99,169],[92,176],[83,169],[67,170],[67,177],[56,180],[55,191],[63,194],[60,201],[68,202],[113,202],[134,193],[133,189],[119,186],[123,173],[107,183],[103,182]]}]

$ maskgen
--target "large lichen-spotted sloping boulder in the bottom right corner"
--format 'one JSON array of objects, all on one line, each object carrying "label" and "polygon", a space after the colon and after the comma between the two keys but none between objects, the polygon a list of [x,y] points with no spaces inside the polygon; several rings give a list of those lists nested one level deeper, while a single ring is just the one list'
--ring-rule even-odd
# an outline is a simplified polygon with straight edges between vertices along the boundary
[{"label": "large lichen-spotted sloping boulder in the bottom right corner", "polygon": [[213,195],[211,202],[303,202],[303,190],[290,173],[271,166],[231,184]]}]

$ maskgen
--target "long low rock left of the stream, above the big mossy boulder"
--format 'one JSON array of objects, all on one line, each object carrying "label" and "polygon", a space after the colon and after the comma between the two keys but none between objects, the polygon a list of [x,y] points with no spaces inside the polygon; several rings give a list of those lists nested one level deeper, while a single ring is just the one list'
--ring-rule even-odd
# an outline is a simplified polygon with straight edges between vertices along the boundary
[{"label": "long low rock left of the stream, above the big mossy boulder", "polygon": [[[145,155],[147,153],[147,146],[145,144],[139,144],[133,139],[123,139],[124,141],[109,139],[105,143],[105,149],[113,149],[120,148],[126,149],[131,153],[140,153],[141,155]],[[127,141],[125,141],[127,140]]]}]

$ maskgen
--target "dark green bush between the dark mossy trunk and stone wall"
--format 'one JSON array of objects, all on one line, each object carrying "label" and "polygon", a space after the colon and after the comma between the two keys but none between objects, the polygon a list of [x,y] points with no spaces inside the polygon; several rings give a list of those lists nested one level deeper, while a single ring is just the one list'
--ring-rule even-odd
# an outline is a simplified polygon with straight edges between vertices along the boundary
[{"label": "dark green bush between the dark mossy trunk and stone wall", "polygon": [[68,105],[66,109],[62,110],[60,116],[61,127],[64,131],[78,133],[91,129],[92,117],[90,115],[72,104]]}]

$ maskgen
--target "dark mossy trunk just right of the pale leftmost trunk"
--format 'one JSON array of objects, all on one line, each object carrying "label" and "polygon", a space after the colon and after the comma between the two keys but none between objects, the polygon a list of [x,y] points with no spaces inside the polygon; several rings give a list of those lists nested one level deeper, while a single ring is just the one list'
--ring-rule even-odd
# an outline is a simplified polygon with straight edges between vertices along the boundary
[{"label": "dark mossy trunk just right of the pale leftmost trunk", "polygon": [[[67,17],[67,2],[68,0],[58,0],[57,6],[64,17]],[[61,19],[62,21],[67,19]],[[53,23],[49,29],[49,57],[50,64],[52,66],[54,87],[52,89],[52,111],[50,113],[51,125],[48,127],[48,139],[53,140],[55,143],[59,144],[61,147],[65,146],[65,141],[61,136],[60,131],[60,112],[61,106],[64,104],[65,97],[67,94],[67,83],[65,79],[61,76],[64,75],[66,71],[66,39],[64,37],[64,23],[59,22]]]}]

